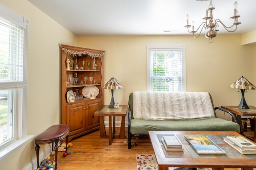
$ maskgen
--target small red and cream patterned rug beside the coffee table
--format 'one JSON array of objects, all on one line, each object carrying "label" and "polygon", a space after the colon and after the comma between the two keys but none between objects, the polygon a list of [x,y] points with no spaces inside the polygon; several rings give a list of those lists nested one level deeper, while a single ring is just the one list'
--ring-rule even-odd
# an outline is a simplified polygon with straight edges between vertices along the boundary
[{"label": "small red and cream patterned rug beside the coffee table", "polygon": [[158,170],[154,154],[137,154],[137,170]]}]

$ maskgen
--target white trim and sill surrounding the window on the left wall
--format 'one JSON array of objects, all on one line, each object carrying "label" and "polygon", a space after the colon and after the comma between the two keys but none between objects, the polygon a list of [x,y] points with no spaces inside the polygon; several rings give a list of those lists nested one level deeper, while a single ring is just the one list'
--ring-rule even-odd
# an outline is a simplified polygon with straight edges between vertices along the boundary
[{"label": "white trim and sill surrounding the window on the left wall", "polygon": [[[27,86],[27,64],[28,64],[28,20],[23,16],[10,11],[8,8],[0,5],[0,16],[6,20],[12,21],[17,25],[24,27],[24,86]],[[11,86],[15,86],[12,84]],[[9,86],[2,86],[0,89],[7,89]],[[24,89],[22,95],[24,104],[18,109],[22,109],[22,115],[18,115],[16,119],[16,136],[10,143],[4,144],[0,149],[0,162],[16,152],[18,149],[30,141],[34,135],[27,135],[27,90]]]}]

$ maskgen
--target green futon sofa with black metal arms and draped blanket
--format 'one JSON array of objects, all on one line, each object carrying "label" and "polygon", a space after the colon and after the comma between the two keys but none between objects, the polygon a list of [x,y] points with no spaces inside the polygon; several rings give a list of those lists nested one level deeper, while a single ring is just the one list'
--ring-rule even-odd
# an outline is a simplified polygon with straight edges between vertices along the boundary
[{"label": "green futon sofa with black metal arms and draped blanket", "polygon": [[[215,107],[207,92],[132,92],[128,110],[128,149],[131,138],[148,131],[236,131],[240,127],[230,111]],[[220,109],[233,121],[217,118]]]}]

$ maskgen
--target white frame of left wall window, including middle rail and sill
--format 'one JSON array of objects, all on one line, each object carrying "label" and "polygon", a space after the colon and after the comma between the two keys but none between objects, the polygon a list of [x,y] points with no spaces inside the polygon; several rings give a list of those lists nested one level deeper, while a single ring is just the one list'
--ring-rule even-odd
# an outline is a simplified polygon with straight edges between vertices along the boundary
[{"label": "white frame of left wall window, including middle rail and sill", "polygon": [[[28,20],[0,5],[0,17],[24,28],[24,70],[21,84],[16,82],[1,83],[0,90],[16,89],[14,113],[13,139],[3,143],[0,147],[0,162],[16,152],[32,139],[34,135],[27,135],[27,64],[28,64]],[[22,90],[21,90],[22,89]]]}]

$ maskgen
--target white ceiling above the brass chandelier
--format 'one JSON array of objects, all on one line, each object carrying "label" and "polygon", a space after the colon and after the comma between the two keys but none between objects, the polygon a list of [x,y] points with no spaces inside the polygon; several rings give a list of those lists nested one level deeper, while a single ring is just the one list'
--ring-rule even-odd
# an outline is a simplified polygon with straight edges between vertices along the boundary
[{"label": "white ceiling above the brass chandelier", "polygon": [[[210,1],[196,0],[28,0],[60,25],[78,36],[86,35],[184,35],[192,20],[197,28]],[[235,0],[212,0],[214,19],[226,26],[234,20]],[[256,0],[237,0],[238,29],[234,33],[256,30]],[[219,27],[220,33],[228,33]],[[164,32],[170,30],[170,32]],[[204,30],[202,31],[205,32]]]}]

